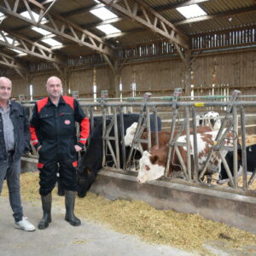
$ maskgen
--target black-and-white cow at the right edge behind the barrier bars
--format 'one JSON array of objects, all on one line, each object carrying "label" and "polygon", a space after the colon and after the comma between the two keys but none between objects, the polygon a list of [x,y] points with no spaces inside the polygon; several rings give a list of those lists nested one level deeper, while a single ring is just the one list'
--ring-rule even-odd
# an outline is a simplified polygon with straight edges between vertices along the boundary
[{"label": "black-and-white cow at the right edge behind the barrier bars", "polygon": [[[246,147],[247,150],[247,174],[253,174],[256,172],[256,144],[250,145]],[[230,167],[230,172],[232,176],[234,175],[234,163],[233,163],[233,152],[229,152],[226,154],[225,159],[227,161],[228,166]],[[238,166],[238,172],[237,177],[240,177],[242,175],[242,162],[241,162],[241,147],[239,146],[237,150],[237,166]],[[224,164],[221,164],[221,171],[219,173],[218,177],[218,184],[224,184],[226,182],[229,182],[230,178],[228,177],[228,174],[226,172],[226,169],[224,168]],[[251,183],[251,180],[250,182]]]}]

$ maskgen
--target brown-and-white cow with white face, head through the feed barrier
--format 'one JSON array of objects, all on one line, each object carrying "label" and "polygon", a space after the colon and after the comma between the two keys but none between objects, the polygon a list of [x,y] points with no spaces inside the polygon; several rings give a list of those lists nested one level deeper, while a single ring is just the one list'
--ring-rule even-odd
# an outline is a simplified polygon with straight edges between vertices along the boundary
[{"label": "brown-and-white cow with white face, head through the feed barrier", "polygon": [[[203,128],[203,127],[202,127]],[[201,170],[204,166],[207,155],[209,154],[212,145],[214,143],[214,140],[218,134],[218,131],[209,131],[206,129],[206,132],[203,132],[204,129],[201,129],[201,133],[197,133],[197,148],[198,148],[198,163],[199,163],[199,169]],[[231,139],[232,134],[228,134],[228,137],[230,139],[225,139],[224,146],[233,146],[233,140]],[[190,144],[191,144],[191,150],[190,154],[194,156],[194,137],[193,135],[189,136]],[[186,143],[187,137],[185,135],[182,135],[178,137],[177,142],[179,143]],[[178,146],[177,147],[180,151],[180,154],[182,155],[184,164],[187,164],[187,147],[186,146]],[[166,161],[167,161],[167,153],[168,153],[168,146],[163,146],[158,148],[157,146],[154,146],[151,148],[151,150],[144,151],[143,157],[140,159],[140,169],[137,176],[137,182],[138,183],[145,183],[150,180],[157,179],[159,177],[164,176],[165,174],[165,168],[166,168]],[[227,153],[224,152],[224,155]],[[221,159],[217,151],[214,151],[212,154],[212,158],[209,162],[209,165],[207,166],[208,172],[216,172],[217,170],[220,170],[221,165]],[[168,177],[171,176],[172,172],[175,171],[181,171],[181,165],[177,158],[177,154],[174,151],[174,148],[172,148],[171,152],[171,162],[168,172],[166,173]]]}]

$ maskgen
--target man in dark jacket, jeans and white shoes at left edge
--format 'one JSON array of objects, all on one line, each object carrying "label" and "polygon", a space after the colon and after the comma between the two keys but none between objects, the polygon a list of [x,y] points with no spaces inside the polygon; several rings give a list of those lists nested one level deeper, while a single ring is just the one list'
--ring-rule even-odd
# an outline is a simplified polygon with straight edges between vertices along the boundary
[{"label": "man in dark jacket, jeans and white shoes at left edge", "polygon": [[9,100],[11,90],[12,82],[0,77],[0,194],[6,177],[15,227],[34,231],[35,227],[23,217],[20,201],[20,156],[29,149],[29,123],[20,103]]}]

